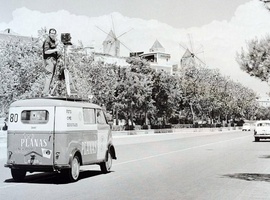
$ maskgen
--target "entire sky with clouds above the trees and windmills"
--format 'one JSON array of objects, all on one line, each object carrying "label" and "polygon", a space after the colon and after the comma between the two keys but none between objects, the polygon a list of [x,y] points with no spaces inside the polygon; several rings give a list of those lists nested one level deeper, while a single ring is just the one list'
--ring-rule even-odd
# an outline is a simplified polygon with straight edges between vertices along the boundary
[{"label": "entire sky with clouds above the trees and windmills", "polygon": [[[70,32],[72,41],[102,51],[104,32],[114,27],[128,51],[148,51],[156,39],[179,63],[184,49],[203,49],[198,54],[210,68],[255,90],[260,96],[270,86],[240,70],[236,52],[246,42],[265,37],[270,11],[259,0],[0,0],[0,31],[11,28],[20,35],[37,36],[41,27]],[[98,28],[97,28],[98,27]],[[102,29],[104,32],[102,32]],[[269,29],[269,30],[268,30]],[[181,44],[181,45],[180,45]]]}]

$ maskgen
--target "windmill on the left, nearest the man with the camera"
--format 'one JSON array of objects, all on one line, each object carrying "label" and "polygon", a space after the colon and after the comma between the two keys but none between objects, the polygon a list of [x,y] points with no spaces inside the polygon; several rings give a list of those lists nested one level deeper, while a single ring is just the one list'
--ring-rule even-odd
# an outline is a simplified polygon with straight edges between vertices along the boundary
[{"label": "windmill on the left, nearest the man with the camera", "polygon": [[97,28],[107,35],[106,39],[102,43],[104,54],[109,54],[112,56],[119,57],[121,45],[123,45],[125,48],[127,48],[129,51],[131,51],[123,42],[121,42],[119,40],[119,38],[122,37],[123,35],[127,34],[132,29],[116,36],[113,19],[112,19],[112,29],[110,30],[110,32],[106,32],[106,31],[102,30],[101,28],[99,28],[98,26],[97,26]]}]

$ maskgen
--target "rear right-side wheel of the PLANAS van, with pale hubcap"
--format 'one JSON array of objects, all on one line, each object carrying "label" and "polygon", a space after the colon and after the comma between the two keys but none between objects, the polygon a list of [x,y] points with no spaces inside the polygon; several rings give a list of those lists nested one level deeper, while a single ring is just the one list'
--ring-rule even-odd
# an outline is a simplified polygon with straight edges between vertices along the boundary
[{"label": "rear right-side wheel of the PLANAS van, with pale hubcap", "polygon": [[79,157],[77,155],[75,155],[73,157],[71,164],[70,164],[70,169],[64,170],[62,173],[71,182],[75,182],[79,179],[80,160],[79,160]]}]

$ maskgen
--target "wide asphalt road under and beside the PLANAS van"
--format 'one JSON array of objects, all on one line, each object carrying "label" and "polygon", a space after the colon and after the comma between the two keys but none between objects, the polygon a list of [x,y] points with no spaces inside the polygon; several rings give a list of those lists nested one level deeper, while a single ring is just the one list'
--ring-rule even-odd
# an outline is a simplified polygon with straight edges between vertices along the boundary
[{"label": "wide asphalt road under and beside the PLANAS van", "polygon": [[0,198],[89,199],[270,199],[269,141],[252,132],[177,133],[115,138],[113,171],[82,167],[80,180],[28,174],[14,182],[0,160]]}]

